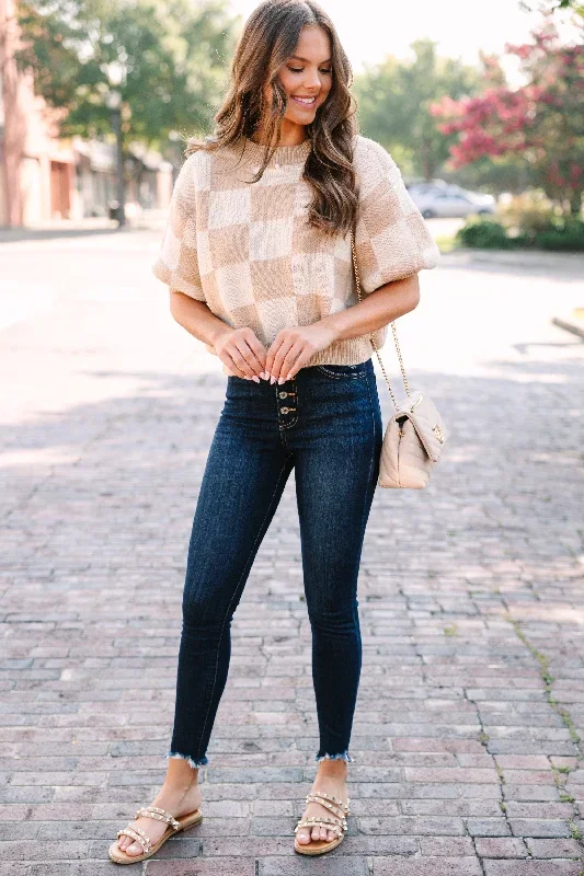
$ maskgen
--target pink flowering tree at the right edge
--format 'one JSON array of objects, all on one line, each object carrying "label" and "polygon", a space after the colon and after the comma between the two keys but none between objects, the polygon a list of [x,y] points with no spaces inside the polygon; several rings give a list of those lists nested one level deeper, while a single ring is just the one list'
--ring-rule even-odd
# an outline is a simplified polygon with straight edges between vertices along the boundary
[{"label": "pink flowering tree at the right edge", "polygon": [[[584,31],[584,24],[583,24]],[[518,157],[529,177],[562,209],[580,215],[584,189],[584,45],[562,45],[546,21],[530,43],[505,46],[526,84],[515,90],[488,80],[474,97],[448,97],[431,107],[439,130],[458,135],[453,169],[484,157]]]}]

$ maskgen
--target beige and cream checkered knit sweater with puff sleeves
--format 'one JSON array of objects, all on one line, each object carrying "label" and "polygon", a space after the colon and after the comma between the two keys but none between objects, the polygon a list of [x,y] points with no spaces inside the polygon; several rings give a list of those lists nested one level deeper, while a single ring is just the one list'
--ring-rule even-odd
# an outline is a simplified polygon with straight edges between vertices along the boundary
[{"label": "beige and cream checkered knit sweater with puff sleeves", "polygon": [[[309,325],[358,301],[350,232],[329,237],[306,222],[312,189],[301,175],[309,152],[310,140],[277,147],[262,178],[251,184],[245,181],[263,154],[253,140],[188,155],[152,267],[170,289],[205,301],[229,325],[251,327],[266,348],[280,328]],[[436,267],[439,252],[383,147],[357,135],[353,160],[365,296]],[[385,326],[374,334],[378,346],[387,333]],[[307,365],[356,365],[371,353],[363,335],[333,342]]]}]

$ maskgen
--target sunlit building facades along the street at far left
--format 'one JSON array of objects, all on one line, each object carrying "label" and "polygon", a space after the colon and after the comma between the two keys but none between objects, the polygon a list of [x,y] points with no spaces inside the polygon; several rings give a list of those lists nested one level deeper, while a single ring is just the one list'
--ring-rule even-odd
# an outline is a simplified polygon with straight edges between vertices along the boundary
[{"label": "sunlit building facades along the street at far left", "polygon": [[[112,142],[60,138],[65,111],[47,106],[34,92],[31,72],[18,70],[16,0],[0,0],[0,227],[32,227],[108,217],[115,200]],[[128,150],[127,215],[165,208],[172,164],[158,153]]]}]

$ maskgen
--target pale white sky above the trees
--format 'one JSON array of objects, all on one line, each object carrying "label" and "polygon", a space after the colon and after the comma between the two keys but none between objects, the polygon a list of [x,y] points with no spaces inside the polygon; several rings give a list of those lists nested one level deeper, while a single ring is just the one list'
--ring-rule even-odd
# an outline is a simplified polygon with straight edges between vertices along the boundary
[{"label": "pale white sky above the trees", "polygon": [[[257,0],[230,0],[231,9],[247,19]],[[524,43],[538,13],[526,13],[518,0],[320,0],[333,20],[355,73],[386,55],[408,57],[409,45],[428,36],[442,55],[474,64],[479,48],[501,54],[504,44]],[[557,13],[557,21],[568,20]],[[562,33],[570,32],[569,25]],[[505,66],[509,81],[518,84],[515,65]]]}]

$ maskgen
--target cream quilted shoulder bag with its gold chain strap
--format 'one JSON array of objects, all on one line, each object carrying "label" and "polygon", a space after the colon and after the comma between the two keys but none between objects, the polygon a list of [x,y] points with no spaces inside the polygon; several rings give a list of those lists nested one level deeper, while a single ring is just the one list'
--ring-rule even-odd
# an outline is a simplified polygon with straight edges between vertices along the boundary
[{"label": "cream quilted shoulder bag with its gold chain strap", "polygon": [[[357,296],[362,301],[354,231],[351,232],[351,251],[355,281],[357,284]],[[394,322],[391,323],[391,331],[406,399],[401,405],[396,401],[379,349],[371,334],[369,338],[377,353],[377,358],[396,408],[396,413],[389,420],[383,435],[377,483],[379,486],[385,487],[421,489],[426,486],[432,469],[440,458],[447,433],[436,406],[427,394],[420,391],[410,392]]]}]

